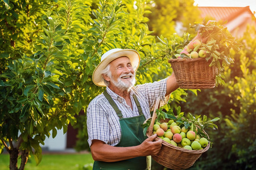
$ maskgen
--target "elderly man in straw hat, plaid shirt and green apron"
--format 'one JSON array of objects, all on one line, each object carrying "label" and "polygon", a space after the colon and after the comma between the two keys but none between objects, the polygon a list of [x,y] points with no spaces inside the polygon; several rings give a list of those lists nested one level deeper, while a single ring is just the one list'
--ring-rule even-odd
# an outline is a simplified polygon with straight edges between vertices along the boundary
[{"label": "elderly man in straw hat, plaid shirt and green apron", "polygon": [[87,109],[93,169],[148,169],[146,156],[158,154],[162,146],[162,140],[154,141],[156,134],[145,139],[141,125],[150,118],[156,99],[166,104],[178,85],[172,74],[134,87],[139,62],[135,50],[112,49],[94,70],[94,84],[106,86],[106,91]]}]

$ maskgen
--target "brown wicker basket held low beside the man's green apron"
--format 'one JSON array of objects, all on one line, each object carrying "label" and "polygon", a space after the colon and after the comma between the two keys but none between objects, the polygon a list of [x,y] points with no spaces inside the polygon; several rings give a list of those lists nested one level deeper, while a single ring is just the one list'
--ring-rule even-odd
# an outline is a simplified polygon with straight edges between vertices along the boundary
[{"label": "brown wicker basket held low beside the man's green apron", "polygon": [[[169,119],[162,120],[163,122],[168,122]],[[205,133],[205,131],[204,131]],[[208,134],[205,133],[207,136]],[[150,137],[150,132],[147,131],[147,137]],[[156,137],[155,141],[158,141],[160,138]],[[170,143],[163,141],[162,148],[157,155],[152,155],[152,158],[155,162],[163,165],[164,167],[170,169],[187,169],[192,167],[199,157],[206,152],[210,147],[210,142],[207,147],[203,150],[187,150],[181,147],[171,145]]]}]

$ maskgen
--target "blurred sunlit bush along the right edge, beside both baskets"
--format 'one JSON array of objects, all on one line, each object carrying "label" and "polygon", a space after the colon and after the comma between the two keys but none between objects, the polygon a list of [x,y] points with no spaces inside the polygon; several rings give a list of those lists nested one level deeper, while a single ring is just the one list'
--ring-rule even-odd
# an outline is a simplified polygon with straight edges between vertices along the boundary
[{"label": "blurred sunlit bush along the right edge, beside both baskets", "polygon": [[[190,169],[253,169],[255,167],[255,27],[247,28],[239,52],[230,50],[234,64],[225,68],[224,86],[188,92],[184,112],[220,117],[218,133],[210,131],[213,149]],[[216,148],[216,149],[214,149]],[[210,160],[210,164],[209,164]]]}]

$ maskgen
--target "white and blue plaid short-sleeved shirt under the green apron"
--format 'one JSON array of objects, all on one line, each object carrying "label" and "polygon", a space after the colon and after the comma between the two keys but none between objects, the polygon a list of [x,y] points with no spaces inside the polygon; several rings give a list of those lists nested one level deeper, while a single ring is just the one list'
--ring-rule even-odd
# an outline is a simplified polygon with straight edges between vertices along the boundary
[{"label": "white and blue plaid short-sleeved shirt under the green apron", "polygon": [[[155,102],[160,96],[160,105],[167,104],[169,96],[166,95],[167,78],[159,82],[140,84],[136,86],[135,92],[139,103],[141,104],[144,116],[150,118],[150,111],[154,110]],[[130,91],[130,99],[133,109],[126,104],[123,97],[115,94],[110,88],[106,87],[106,91],[114,100],[115,104],[123,114],[123,118],[139,116],[139,111],[133,99],[134,91]],[[115,113],[112,105],[106,97],[101,94],[95,97],[87,108],[87,129],[88,143],[92,144],[93,139],[98,139],[108,145],[115,146],[121,138],[121,127],[119,117]]]}]

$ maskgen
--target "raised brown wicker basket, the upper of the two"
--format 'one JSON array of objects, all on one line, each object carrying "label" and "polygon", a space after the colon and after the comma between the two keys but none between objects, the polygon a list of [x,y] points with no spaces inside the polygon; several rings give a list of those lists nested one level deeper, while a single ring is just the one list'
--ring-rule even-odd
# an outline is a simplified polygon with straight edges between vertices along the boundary
[{"label": "raised brown wicker basket, the upper of the two", "polygon": [[204,89],[215,87],[218,69],[210,67],[205,58],[169,59],[180,88]]}]

